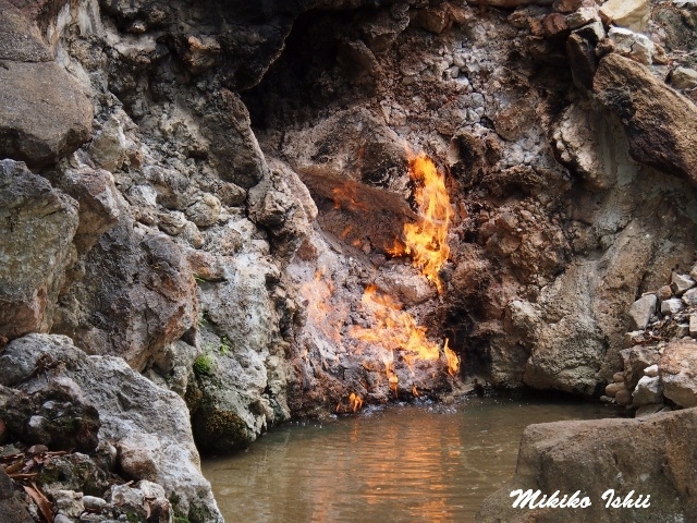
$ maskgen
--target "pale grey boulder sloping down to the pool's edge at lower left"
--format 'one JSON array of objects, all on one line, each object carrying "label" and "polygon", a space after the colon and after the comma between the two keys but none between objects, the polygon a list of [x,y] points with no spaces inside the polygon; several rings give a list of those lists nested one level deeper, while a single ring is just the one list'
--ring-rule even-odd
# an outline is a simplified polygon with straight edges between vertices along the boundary
[{"label": "pale grey boulder sloping down to the pool's edge at lower left", "polygon": [[[36,369],[41,365],[42,370]],[[29,394],[66,386],[99,412],[99,439],[119,450],[119,467],[134,481],[164,487],[178,515],[222,522],[200,473],[188,410],[174,392],[133,370],[122,358],[88,356],[63,336],[28,335],[0,356],[0,385]],[[68,385],[70,384],[70,385]]]}]

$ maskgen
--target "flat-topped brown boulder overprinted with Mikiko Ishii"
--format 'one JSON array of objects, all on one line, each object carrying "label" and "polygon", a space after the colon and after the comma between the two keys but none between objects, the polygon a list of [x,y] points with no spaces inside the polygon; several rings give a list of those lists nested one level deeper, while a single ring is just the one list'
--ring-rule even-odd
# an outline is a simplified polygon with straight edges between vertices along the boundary
[{"label": "flat-topped brown boulder overprinted with Mikiko Ishii", "polygon": [[[697,508],[690,487],[697,451],[686,441],[695,428],[695,409],[641,421],[530,425],[523,434],[513,481],[485,500],[477,521],[690,521]],[[608,509],[608,497],[603,500],[602,495],[609,488],[622,499],[631,490],[634,499],[639,494],[643,499],[650,496],[650,507]],[[584,509],[515,509],[510,495],[516,489],[539,489],[548,497],[559,490],[560,498],[580,490],[579,499],[586,496],[591,504]]]}]

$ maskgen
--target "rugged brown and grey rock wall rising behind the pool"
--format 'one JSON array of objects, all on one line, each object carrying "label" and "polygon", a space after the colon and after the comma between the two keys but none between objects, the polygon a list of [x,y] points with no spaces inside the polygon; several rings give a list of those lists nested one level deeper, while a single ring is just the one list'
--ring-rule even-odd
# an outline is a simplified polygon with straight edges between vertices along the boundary
[{"label": "rugged brown and grey rock wall rising behind the pool", "polygon": [[[356,396],[438,397],[458,379],[444,339],[497,387],[607,390],[645,412],[661,387],[693,401],[673,349],[644,374],[656,337],[697,331],[690,11],[222,3],[0,0],[0,156],[44,177],[0,163],[0,345],[65,335],[101,356],[75,361],[136,387],[120,356],[183,396],[217,451],[294,414],[351,412]],[[395,255],[420,218],[421,153],[450,197],[431,280]],[[430,360],[386,340],[368,289],[426,329]],[[27,427],[41,408],[12,430],[58,445],[61,427]],[[154,433],[109,416],[122,470],[169,496]]]}]

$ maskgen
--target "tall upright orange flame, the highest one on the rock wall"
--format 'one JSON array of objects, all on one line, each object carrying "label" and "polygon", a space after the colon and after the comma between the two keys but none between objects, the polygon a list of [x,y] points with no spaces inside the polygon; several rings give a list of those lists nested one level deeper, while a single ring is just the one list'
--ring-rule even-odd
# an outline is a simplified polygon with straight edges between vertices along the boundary
[{"label": "tall upright orange flame, the highest one on the rock wall", "polygon": [[443,284],[438,271],[448,260],[448,228],[452,208],[445,190],[445,177],[426,156],[419,155],[409,162],[409,175],[416,183],[414,199],[418,205],[418,221],[404,224],[404,240],[398,241],[390,254],[412,256],[419,268],[442,294]]}]

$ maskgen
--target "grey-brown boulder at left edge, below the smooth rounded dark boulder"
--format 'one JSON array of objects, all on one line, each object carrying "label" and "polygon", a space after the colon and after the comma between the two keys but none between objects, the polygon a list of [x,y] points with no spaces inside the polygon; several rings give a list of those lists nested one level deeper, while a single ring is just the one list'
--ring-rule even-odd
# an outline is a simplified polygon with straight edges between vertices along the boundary
[{"label": "grey-brown boulder at left edge, below the smooth rounded dark boulder", "polygon": [[0,160],[0,339],[50,328],[77,227],[73,198]]}]

